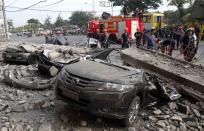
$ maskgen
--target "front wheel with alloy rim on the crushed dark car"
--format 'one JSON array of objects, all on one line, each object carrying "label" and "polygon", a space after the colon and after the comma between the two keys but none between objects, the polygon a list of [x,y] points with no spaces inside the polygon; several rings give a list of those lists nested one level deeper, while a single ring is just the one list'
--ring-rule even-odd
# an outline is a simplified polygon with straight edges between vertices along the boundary
[{"label": "front wheel with alloy rim on the crushed dark car", "polygon": [[128,107],[127,116],[124,119],[124,126],[133,126],[137,119],[138,112],[141,107],[141,100],[139,96],[134,97],[130,106]]}]

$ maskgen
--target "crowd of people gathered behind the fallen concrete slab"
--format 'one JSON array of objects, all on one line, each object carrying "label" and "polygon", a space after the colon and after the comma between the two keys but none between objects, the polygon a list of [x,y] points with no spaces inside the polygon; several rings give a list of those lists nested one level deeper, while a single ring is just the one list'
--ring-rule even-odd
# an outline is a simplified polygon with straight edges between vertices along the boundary
[{"label": "crowd of people gathered behind the fallen concrete slab", "polygon": [[[184,29],[182,26],[174,29],[155,29],[143,31],[137,29],[134,34],[136,47],[161,50],[162,53],[172,55],[173,50],[180,50],[184,60],[191,62],[197,53],[200,42],[200,25]],[[122,48],[131,46],[128,29],[122,34]]]}]

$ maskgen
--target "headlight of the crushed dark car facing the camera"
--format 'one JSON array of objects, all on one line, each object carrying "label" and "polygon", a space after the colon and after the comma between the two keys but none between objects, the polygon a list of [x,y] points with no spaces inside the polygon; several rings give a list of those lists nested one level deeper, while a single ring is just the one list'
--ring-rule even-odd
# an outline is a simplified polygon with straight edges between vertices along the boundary
[{"label": "headlight of the crushed dark car facing the camera", "polygon": [[125,91],[127,89],[133,89],[134,85],[123,85],[123,84],[114,84],[114,83],[106,83],[103,86],[99,87],[99,91]]}]

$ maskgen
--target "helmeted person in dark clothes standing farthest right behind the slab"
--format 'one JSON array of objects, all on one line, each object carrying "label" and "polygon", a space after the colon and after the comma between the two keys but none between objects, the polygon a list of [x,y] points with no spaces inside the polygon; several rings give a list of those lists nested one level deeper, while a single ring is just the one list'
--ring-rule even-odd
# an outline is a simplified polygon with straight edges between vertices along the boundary
[{"label": "helmeted person in dark clothes standing farthest right behind the slab", "polygon": [[196,38],[191,28],[186,31],[181,41],[181,53],[184,55],[184,60],[191,62],[195,56]]}]

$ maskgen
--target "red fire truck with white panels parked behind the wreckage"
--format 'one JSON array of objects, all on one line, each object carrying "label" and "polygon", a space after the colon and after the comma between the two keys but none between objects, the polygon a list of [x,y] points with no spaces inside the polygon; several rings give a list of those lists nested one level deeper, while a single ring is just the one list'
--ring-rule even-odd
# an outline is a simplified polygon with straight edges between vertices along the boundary
[{"label": "red fire truck with white panels parked behind the wreckage", "polygon": [[102,32],[103,29],[107,30],[109,40],[120,41],[124,33],[124,29],[128,29],[130,39],[135,39],[134,34],[139,29],[143,30],[143,22],[139,18],[111,16],[107,20],[92,20],[88,23],[88,37],[95,37],[97,33]]}]

